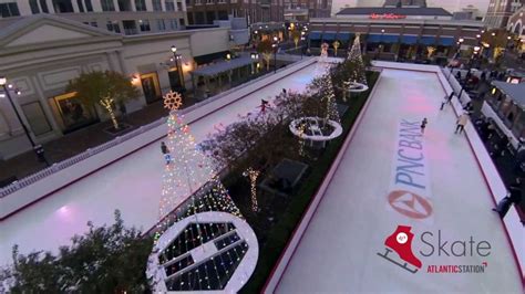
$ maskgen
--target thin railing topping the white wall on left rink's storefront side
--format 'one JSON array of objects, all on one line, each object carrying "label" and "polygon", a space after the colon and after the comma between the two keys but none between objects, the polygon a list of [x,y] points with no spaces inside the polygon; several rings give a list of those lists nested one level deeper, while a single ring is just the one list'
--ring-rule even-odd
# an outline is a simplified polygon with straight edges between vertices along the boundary
[{"label": "thin railing topping the white wall on left rink's storefront side", "polygon": [[[308,60],[308,59],[307,59],[307,60]],[[285,71],[285,70],[287,70],[287,69],[288,69],[288,67],[282,67],[282,69],[279,69],[277,72],[281,72],[281,71]],[[268,73],[268,74],[271,74],[271,73]],[[230,88],[230,90],[228,90],[228,91],[222,92],[222,93],[219,93],[219,94],[217,94],[217,95],[215,95],[215,96],[213,96],[213,97],[209,97],[209,98],[207,98],[207,99],[205,99],[205,101],[197,102],[196,104],[194,104],[194,105],[192,105],[192,106],[189,106],[189,107],[187,107],[187,108],[184,108],[184,109],[179,111],[179,113],[184,115],[184,114],[186,114],[186,113],[189,113],[189,112],[194,111],[195,108],[198,108],[198,107],[200,107],[200,106],[203,106],[203,105],[206,105],[206,104],[209,104],[209,103],[212,103],[212,102],[215,102],[215,101],[217,101],[217,99],[219,99],[219,98],[222,98],[222,97],[224,97],[224,96],[226,96],[226,95],[231,94],[233,92],[238,91],[239,88],[243,88],[243,87],[253,85],[253,84],[255,84],[255,83],[257,83],[257,82],[260,82],[260,81],[264,80],[264,78],[267,78],[267,77],[268,77],[268,74],[258,76],[258,77],[256,77],[256,78],[254,78],[254,80],[251,80],[251,81],[249,81],[249,82],[246,82],[246,83],[244,83],[244,84],[240,84],[240,85],[238,85],[238,86],[236,86],[236,87],[233,87],[233,88]],[[56,174],[58,171],[60,171],[60,170],[62,170],[62,169],[69,168],[69,167],[71,167],[71,166],[73,166],[73,165],[75,165],[75,164],[78,164],[78,162],[80,162],[80,161],[82,161],[82,160],[85,160],[85,159],[87,159],[87,158],[90,158],[90,157],[92,157],[92,156],[94,156],[94,155],[97,155],[97,154],[100,154],[100,153],[102,153],[102,151],[104,151],[104,150],[107,150],[107,149],[110,149],[110,148],[112,148],[112,147],[115,147],[115,146],[117,146],[119,144],[122,144],[122,143],[124,143],[124,141],[127,141],[127,140],[130,140],[131,138],[134,138],[134,137],[136,137],[136,136],[138,136],[138,135],[141,135],[141,134],[144,134],[144,133],[146,133],[146,132],[148,132],[148,130],[151,130],[151,129],[153,129],[153,128],[155,128],[155,127],[162,126],[163,124],[166,123],[166,117],[167,117],[167,116],[164,116],[164,117],[162,117],[162,118],[159,118],[159,119],[157,119],[157,120],[155,120],[155,122],[153,122],[153,123],[150,123],[150,124],[147,124],[147,125],[143,125],[143,126],[138,127],[137,129],[134,129],[134,130],[132,130],[132,132],[130,132],[130,133],[127,133],[127,134],[124,134],[124,135],[122,135],[122,136],[117,136],[117,137],[113,138],[113,139],[110,140],[110,141],[106,141],[106,143],[101,144],[101,145],[99,145],[99,146],[95,146],[95,147],[93,147],[93,148],[87,148],[85,151],[83,151],[83,153],[81,153],[81,154],[78,154],[78,155],[75,155],[75,156],[73,156],[73,157],[70,157],[70,158],[68,158],[68,159],[64,159],[64,160],[62,160],[62,161],[55,162],[55,164],[53,164],[52,166],[50,166],[50,167],[48,167],[48,168],[45,168],[45,169],[42,169],[42,170],[40,170],[40,171],[38,171],[38,172],[35,172],[35,174],[32,174],[32,175],[30,175],[30,176],[27,176],[27,177],[24,177],[24,178],[22,178],[22,179],[20,179],[20,180],[16,180],[16,181],[11,182],[10,185],[8,185],[8,186],[6,186],[6,187],[3,187],[3,188],[0,189],[0,198],[3,198],[3,197],[6,197],[6,196],[8,196],[8,195],[10,195],[10,193],[13,193],[13,192],[16,192],[16,191],[18,191],[18,190],[20,190],[20,189],[22,189],[22,188],[24,188],[24,187],[31,185],[31,183],[34,183],[34,182],[37,182],[37,181],[39,181],[39,180],[41,180],[41,179],[43,179],[43,178],[45,178],[45,177],[49,177],[49,176],[51,176],[51,175],[53,175],[53,174]],[[187,123],[189,124],[191,122],[187,122]]]}]

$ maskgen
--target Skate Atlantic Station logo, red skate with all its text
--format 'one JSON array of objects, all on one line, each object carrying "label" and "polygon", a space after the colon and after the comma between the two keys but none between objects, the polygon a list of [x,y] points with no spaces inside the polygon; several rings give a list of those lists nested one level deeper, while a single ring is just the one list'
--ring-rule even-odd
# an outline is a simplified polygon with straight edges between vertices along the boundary
[{"label": "Skate Atlantic Station logo, red skate with all its text", "polygon": [[[398,229],[395,229],[395,231],[384,240],[384,245],[387,246],[385,252],[378,252],[378,255],[414,274],[423,267],[423,263],[412,250],[414,234],[411,230],[412,227],[398,225]],[[491,255],[491,243],[488,243],[488,241],[476,242],[472,235],[469,240],[451,241],[445,240],[442,237],[441,230],[439,230],[436,234],[425,231],[420,235],[420,241],[423,246],[418,253],[422,258],[430,258],[433,255],[444,258],[486,258]],[[393,252],[397,254],[393,254]],[[426,273],[484,273],[487,265],[488,264],[485,261],[481,264],[474,265],[429,264],[426,265]]]}]

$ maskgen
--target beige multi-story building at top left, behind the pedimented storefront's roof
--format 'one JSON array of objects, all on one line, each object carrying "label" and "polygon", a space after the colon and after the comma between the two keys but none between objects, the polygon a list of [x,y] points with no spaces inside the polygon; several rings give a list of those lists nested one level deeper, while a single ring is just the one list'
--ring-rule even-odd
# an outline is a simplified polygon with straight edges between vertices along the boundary
[{"label": "beige multi-story building at top left, behind the pedimented storefront's roof", "polygon": [[0,22],[20,17],[58,14],[126,35],[176,31],[186,25],[184,0],[7,0]]}]

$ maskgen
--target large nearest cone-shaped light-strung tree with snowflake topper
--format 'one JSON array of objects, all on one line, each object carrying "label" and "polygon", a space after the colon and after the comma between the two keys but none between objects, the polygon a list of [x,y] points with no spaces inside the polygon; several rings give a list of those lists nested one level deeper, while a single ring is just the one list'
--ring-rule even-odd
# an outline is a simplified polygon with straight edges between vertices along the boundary
[{"label": "large nearest cone-shaped light-strung tree with snowflake topper", "polygon": [[[209,160],[196,145],[189,126],[177,114],[181,105],[178,93],[169,92],[164,97],[164,106],[171,109],[166,140],[171,160],[163,175],[157,237],[179,219],[198,212],[225,211],[240,216]],[[173,216],[168,217],[171,213]]]}]

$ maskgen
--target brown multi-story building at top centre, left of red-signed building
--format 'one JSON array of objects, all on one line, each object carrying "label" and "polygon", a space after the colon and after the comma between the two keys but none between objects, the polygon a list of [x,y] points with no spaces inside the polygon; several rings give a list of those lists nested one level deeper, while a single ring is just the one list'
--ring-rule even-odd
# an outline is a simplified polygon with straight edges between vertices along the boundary
[{"label": "brown multi-story building at top centre, left of red-signed building", "polygon": [[246,18],[248,23],[282,21],[282,0],[185,0],[188,24],[213,24],[215,20]]}]

